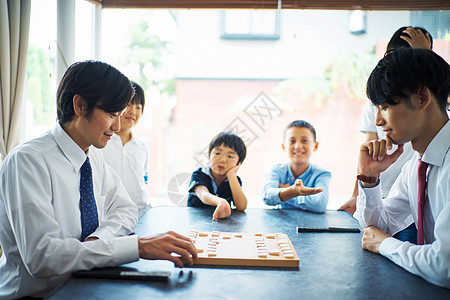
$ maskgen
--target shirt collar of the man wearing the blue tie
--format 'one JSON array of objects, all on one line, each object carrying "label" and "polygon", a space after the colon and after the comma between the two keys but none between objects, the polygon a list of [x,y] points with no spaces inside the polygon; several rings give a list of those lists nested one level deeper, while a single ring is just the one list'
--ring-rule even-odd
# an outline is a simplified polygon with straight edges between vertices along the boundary
[{"label": "shirt collar of the man wearing the blue tie", "polygon": [[53,128],[52,135],[64,156],[70,161],[74,169],[78,171],[86,160],[86,153],[64,131],[59,122]]}]

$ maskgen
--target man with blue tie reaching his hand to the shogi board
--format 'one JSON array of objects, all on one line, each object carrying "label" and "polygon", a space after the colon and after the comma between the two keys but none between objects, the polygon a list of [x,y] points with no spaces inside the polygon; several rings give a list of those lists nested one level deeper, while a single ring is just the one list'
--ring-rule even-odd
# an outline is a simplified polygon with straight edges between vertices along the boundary
[{"label": "man with blue tie reaching his hand to the shogi board", "polygon": [[[130,235],[137,208],[119,176],[94,148],[103,148],[120,130],[120,115],[132,96],[130,81],[112,66],[98,61],[75,63],[58,88],[58,124],[17,146],[4,160],[0,299],[45,297],[76,270],[139,258],[166,259],[183,266],[196,258],[190,240],[177,233],[150,238]],[[80,168],[87,157],[98,227],[81,240]]]}]

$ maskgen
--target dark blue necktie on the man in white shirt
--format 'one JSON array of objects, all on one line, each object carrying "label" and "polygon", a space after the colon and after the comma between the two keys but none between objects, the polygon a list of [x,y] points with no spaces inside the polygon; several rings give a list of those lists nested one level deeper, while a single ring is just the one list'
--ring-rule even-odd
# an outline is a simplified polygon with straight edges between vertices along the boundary
[{"label": "dark blue necktie on the man in white shirt", "polygon": [[81,241],[84,241],[98,227],[97,205],[95,204],[89,157],[86,157],[80,171]]}]

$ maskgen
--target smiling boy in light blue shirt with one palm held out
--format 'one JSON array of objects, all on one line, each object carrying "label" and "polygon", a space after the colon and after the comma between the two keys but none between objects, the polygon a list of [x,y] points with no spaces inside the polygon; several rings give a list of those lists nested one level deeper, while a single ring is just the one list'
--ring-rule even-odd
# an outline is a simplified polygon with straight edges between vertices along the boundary
[{"label": "smiling boy in light blue shirt with one palm held out", "polygon": [[266,174],[263,201],[282,208],[324,212],[328,204],[331,173],[309,162],[311,154],[319,146],[316,130],[306,121],[291,122],[284,131],[281,146],[290,162],[276,164]]}]

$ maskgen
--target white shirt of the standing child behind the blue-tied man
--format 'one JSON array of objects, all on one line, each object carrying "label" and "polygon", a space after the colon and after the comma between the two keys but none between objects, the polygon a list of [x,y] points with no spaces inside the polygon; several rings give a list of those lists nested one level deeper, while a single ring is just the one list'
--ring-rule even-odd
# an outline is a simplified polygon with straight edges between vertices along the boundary
[{"label": "white shirt of the standing child behind the blue-tied man", "polygon": [[147,185],[147,145],[133,135],[124,146],[120,136],[115,134],[101,152],[106,163],[119,174],[128,195],[138,207],[139,216],[141,216],[151,206]]}]

